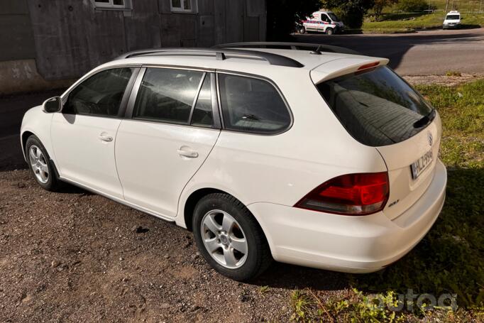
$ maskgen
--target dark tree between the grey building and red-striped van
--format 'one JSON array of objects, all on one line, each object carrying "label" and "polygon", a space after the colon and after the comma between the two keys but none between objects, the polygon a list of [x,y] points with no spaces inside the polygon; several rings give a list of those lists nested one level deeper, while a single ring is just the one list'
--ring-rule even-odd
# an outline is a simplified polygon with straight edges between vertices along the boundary
[{"label": "dark tree between the grey building and red-striped van", "polygon": [[268,40],[287,40],[297,23],[320,8],[320,0],[267,0]]}]

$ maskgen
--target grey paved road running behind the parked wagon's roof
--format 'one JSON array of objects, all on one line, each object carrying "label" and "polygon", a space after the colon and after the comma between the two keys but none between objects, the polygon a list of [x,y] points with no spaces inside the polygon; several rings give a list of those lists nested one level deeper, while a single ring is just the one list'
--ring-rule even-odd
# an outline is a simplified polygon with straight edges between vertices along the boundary
[{"label": "grey paved road running behind the parked wagon's roof", "polygon": [[296,35],[303,43],[324,43],[390,58],[400,75],[444,74],[449,70],[484,74],[484,28],[421,31],[395,35]]}]

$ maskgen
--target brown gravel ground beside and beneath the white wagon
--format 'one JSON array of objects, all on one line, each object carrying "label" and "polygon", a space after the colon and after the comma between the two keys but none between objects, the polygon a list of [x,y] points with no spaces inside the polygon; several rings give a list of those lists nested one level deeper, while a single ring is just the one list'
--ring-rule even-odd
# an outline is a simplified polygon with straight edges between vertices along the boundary
[{"label": "brown gravel ground beside and beneath the white wagon", "polygon": [[229,280],[189,231],[75,187],[47,192],[28,170],[0,172],[0,277],[0,322],[287,321],[291,290],[348,288],[280,263]]}]

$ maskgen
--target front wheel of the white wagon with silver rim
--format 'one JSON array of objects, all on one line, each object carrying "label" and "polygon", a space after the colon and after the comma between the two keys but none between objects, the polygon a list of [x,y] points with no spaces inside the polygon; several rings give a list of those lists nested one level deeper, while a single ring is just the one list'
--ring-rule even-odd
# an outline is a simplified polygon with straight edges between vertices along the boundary
[{"label": "front wheel of the white wagon with silver rim", "polygon": [[48,191],[58,190],[60,181],[57,169],[39,138],[35,135],[28,137],[25,150],[28,169],[38,185]]}]

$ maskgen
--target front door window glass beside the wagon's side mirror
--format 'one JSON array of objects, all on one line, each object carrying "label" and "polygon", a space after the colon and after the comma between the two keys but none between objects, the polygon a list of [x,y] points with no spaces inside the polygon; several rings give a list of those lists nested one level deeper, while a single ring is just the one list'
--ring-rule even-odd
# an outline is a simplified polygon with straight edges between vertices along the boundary
[{"label": "front door window glass beside the wagon's side mirror", "polygon": [[133,69],[123,67],[89,77],[70,92],[62,113],[117,116],[132,74]]}]

